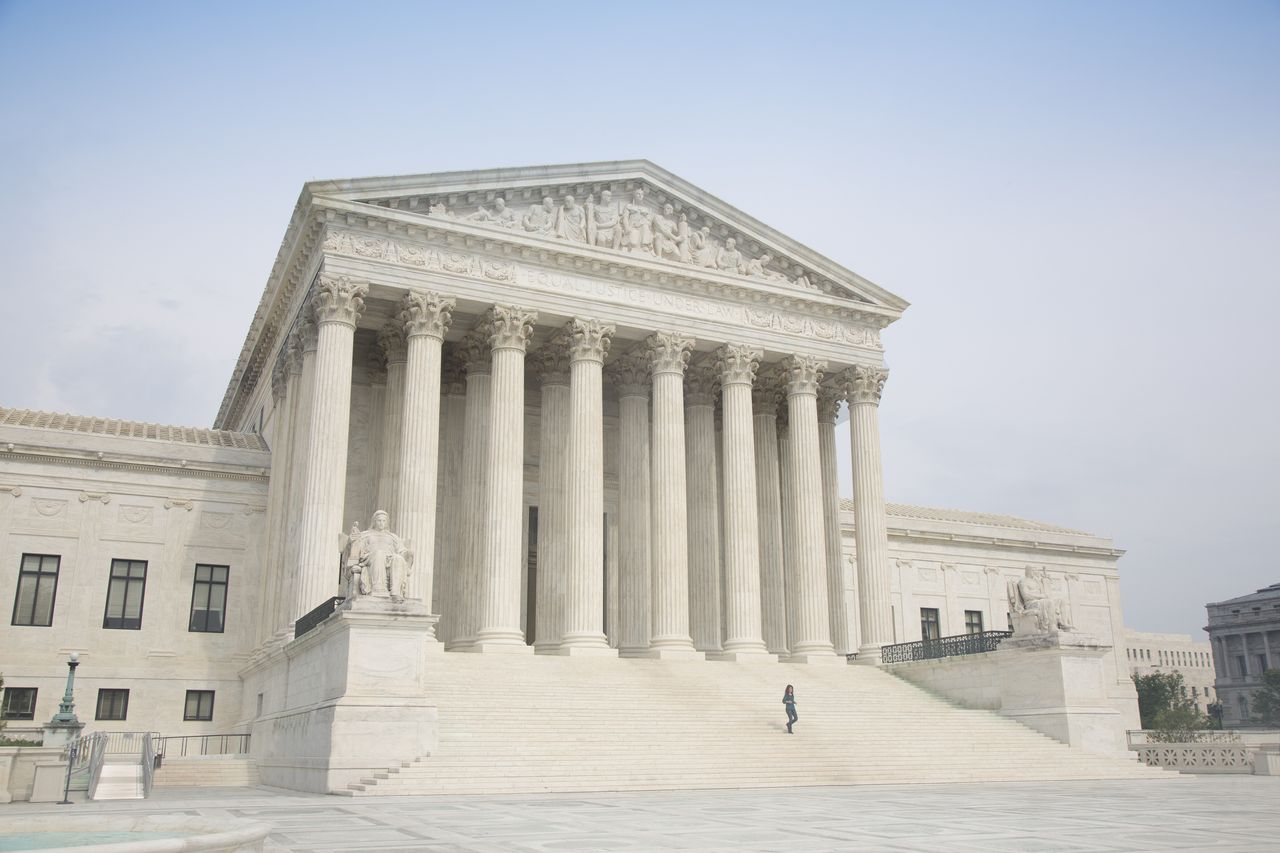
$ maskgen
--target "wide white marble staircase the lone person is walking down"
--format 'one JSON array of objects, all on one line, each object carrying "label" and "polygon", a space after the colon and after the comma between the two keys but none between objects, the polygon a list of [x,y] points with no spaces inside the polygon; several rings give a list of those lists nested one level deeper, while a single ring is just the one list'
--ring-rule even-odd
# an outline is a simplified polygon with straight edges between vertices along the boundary
[{"label": "wide white marble staircase the lone person is walking down", "polygon": [[[435,754],[347,795],[1161,779],[874,667],[439,654]],[[800,721],[786,731],[782,692]]]}]

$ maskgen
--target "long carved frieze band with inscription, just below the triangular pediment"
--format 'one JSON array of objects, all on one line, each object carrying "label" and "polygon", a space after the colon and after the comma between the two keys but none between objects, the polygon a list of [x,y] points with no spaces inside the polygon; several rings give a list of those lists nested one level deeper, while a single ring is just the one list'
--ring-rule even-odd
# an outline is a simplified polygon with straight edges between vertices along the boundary
[{"label": "long carved frieze band with inscription, just below the triangular pediment", "polygon": [[844,343],[867,350],[883,350],[879,329],[850,325],[838,320],[822,320],[772,307],[730,305],[684,293],[663,293],[616,282],[586,279],[545,269],[530,268],[513,261],[503,261],[468,252],[439,251],[408,246],[387,237],[361,237],[340,229],[330,229],[324,248],[337,255],[369,257],[401,266],[413,266],[434,273],[452,273],[490,282],[581,293],[612,302],[678,311],[733,325],[765,329],[783,334]]}]

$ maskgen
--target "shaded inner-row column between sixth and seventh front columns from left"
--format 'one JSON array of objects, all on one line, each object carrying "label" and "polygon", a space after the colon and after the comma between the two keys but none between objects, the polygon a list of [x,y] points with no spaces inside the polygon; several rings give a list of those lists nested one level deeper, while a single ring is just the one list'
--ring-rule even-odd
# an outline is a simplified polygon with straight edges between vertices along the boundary
[{"label": "shaded inner-row column between sixth and seventh front columns from left", "polygon": [[783,654],[787,651],[787,594],[782,576],[777,394],[771,388],[759,389],[753,403],[755,508],[760,532],[760,622],[764,647],[773,654]]}]

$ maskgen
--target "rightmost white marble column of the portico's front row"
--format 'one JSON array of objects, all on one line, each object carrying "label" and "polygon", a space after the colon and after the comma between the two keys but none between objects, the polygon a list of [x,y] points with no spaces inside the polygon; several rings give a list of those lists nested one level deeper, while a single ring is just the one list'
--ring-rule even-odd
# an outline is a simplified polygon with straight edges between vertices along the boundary
[{"label": "rightmost white marble column of the portico's front row", "polygon": [[858,549],[858,612],[861,644],[858,663],[881,661],[881,647],[893,642],[890,601],[888,520],[879,451],[879,401],[888,371],[855,365],[845,371],[849,432],[854,460],[854,543]]}]

